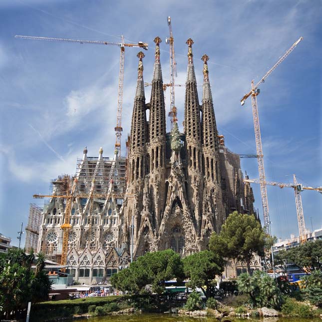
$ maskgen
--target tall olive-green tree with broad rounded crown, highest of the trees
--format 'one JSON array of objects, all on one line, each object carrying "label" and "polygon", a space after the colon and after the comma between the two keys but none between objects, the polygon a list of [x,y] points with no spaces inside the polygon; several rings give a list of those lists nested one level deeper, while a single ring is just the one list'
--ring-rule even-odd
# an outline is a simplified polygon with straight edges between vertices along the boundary
[{"label": "tall olive-green tree with broad rounded crown, highest of the trees", "polygon": [[254,215],[229,215],[219,235],[213,233],[209,249],[222,257],[245,261],[251,274],[250,262],[253,254],[264,256],[264,248],[271,247],[272,239],[264,232]]}]

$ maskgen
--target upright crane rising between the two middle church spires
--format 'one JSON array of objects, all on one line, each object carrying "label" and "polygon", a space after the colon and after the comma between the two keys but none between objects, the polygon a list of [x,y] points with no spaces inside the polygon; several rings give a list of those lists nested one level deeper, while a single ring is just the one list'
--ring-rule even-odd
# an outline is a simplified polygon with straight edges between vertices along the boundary
[{"label": "upright crane rising between the two middle church spires", "polygon": [[171,120],[171,131],[177,119],[177,108],[174,105],[174,77],[177,77],[177,63],[174,56],[174,38],[172,33],[172,24],[171,17],[168,16],[168,26],[170,36],[165,39],[165,43],[169,44],[169,52],[170,52],[170,112],[168,116],[170,116]]}]

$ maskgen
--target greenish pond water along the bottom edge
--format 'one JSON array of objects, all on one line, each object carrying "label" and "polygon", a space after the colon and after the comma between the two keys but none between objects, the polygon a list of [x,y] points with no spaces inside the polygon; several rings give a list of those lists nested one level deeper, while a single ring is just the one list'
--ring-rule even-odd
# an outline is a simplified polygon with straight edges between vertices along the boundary
[{"label": "greenish pond water along the bottom edge", "polygon": [[[320,319],[295,319],[295,318],[258,318],[258,319],[241,319],[241,318],[224,318],[232,322],[321,322]],[[86,320],[77,320],[78,322],[218,322],[214,317],[192,318],[187,316],[178,316],[174,314],[134,314],[124,316],[106,316],[95,317]]]}]

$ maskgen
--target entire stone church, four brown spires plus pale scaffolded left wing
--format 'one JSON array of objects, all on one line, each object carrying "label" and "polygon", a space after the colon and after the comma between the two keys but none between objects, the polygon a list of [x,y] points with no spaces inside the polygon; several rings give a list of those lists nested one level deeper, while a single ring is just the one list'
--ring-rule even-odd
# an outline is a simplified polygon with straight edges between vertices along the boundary
[{"label": "entire stone church, four brown spires plus pale scaffolded left wing", "polygon": [[[67,265],[82,283],[104,282],[127,267],[131,257],[135,260],[146,252],[171,248],[186,256],[204,250],[211,233],[220,231],[232,211],[257,215],[252,188],[243,183],[239,156],[218,138],[208,77],[209,57],[202,57],[204,80],[200,105],[193,40],[187,40],[183,133],[176,122],[167,133],[161,39],[156,37],[154,41],[149,103],[144,93],[144,54],[138,53],[127,160],[117,155],[113,160],[104,158],[102,149],[98,157],[87,157],[85,148],[77,165]],[[54,181],[54,195],[64,191],[63,179]],[[90,192],[94,197],[81,195]],[[122,192],[125,195],[121,196]],[[61,255],[64,209],[64,199],[51,198],[44,208],[39,233],[38,250],[56,258]]]}]

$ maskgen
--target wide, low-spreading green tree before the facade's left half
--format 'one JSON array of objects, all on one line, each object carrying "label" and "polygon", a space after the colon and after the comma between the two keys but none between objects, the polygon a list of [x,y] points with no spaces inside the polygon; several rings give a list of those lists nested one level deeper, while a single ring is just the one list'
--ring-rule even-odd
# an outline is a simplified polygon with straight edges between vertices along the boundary
[{"label": "wide, low-spreading green tree before the facade's left half", "polygon": [[138,294],[147,285],[152,292],[161,294],[165,290],[165,281],[183,277],[183,265],[179,254],[168,249],[140,256],[130,267],[111,278],[114,288]]}]

